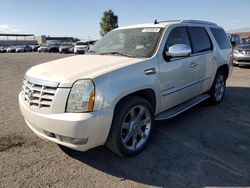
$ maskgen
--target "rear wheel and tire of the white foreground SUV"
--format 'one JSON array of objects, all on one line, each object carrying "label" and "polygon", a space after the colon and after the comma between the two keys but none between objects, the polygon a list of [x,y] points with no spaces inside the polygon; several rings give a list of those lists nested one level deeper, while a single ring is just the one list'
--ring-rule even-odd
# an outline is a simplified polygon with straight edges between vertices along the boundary
[{"label": "rear wheel and tire of the white foreground SUV", "polygon": [[209,91],[210,98],[209,103],[210,104],[219,104],[225,94],[226,90],[226,74],[223,71],[218,71],[215,75],[213,85]]}]

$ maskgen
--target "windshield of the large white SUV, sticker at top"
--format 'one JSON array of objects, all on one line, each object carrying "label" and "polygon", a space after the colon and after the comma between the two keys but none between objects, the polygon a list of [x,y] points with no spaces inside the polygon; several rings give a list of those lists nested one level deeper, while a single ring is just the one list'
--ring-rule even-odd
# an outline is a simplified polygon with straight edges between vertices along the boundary
[{"label": "windshield of the large white SUV, sticker at top", "polygon": [[97,54],[117,54],[128,57],[151,57],[160,40],[160,28],[135,28],[109,32],[91,49]]}]

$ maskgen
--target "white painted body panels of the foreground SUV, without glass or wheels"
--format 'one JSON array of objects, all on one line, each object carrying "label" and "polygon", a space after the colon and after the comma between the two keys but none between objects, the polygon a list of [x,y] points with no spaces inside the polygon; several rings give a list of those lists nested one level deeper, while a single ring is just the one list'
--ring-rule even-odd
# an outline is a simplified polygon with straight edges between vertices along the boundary
[{"label": "white painted body panels of the foreground SUV, without glass or wheels", "polygon": [[[57,82],[59,88],[47,111],[29,106],[23,100],[22,92],[19,94],[20,109],[26,123],[43,139],[85,151],[105,143],[116,104],[133,92],[143,89],[153,90],[156,96],[155,115],[157,115],[208,91],[212,86],[217,68],[222,64],[229,65],[230,50],[218,50],[219,47],[213,35],[207,29],[214,45],[212,52],[166,62],[162,53],[169,32],[177,26],[187,25],[190,26],[190,24],[172,22],[158,24],[157,27],[164,28],[165,31],[155,54],[150,58],[84,55],[32,67],[27,71],[27,76]],[[120,29],[139,27],[156,26],[144,24]],[[189,63],[193,61],[196,61],[198,65],[190,68]],[[229,67],[231,70],[230,65]],[[156,74],[144,73],[144,70],[150,68],[155,68]],[[92,79],[95,84],[93,112],[66,113],[65,106],[72,84],[84,78]],[[197,83],[186,87],[195,82]],[[72,138],[86,138],[88,142],[83,145],[69,144],[58,138],[47,136],[44,131]]]}]

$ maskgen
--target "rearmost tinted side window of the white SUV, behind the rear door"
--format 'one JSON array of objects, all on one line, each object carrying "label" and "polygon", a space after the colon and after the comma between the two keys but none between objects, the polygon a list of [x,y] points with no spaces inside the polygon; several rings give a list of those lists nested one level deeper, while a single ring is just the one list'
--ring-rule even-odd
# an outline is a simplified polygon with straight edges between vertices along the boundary
[{"label": "rearmost tinted side window of the white SUV, behind the rear door", "polygon": [[231,43],[223,29],[220,28],[210,28],[217,44],[219,45],[220,49],[228,49],[232,48]]}]

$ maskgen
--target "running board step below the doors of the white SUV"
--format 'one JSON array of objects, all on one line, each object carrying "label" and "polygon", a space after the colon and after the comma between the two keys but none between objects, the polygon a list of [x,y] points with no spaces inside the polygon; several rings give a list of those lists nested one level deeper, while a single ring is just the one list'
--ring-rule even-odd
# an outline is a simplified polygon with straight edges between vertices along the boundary
[{"label": "running board step below the doors of the white SUV", "polygon": [[166,110],[164,112],[161,112],[160,114],[155,116],[155,120],[156,121],[160,121],[160,120],[168,120],[168,119],[172,119],[175,116],[181,114],[182,112],[185,112],[186,110],[188,110],[189,108],[192,108],[193,106],[201,103],[202,101],[208,99],[210,97],[209,94],[202,94],[199,95],[195,98],[192,98],[190,100],[188,100],[187,102],[184,102],[182,104],[179,104],[169,110]]}]

